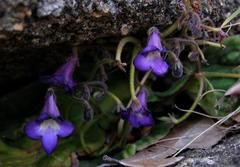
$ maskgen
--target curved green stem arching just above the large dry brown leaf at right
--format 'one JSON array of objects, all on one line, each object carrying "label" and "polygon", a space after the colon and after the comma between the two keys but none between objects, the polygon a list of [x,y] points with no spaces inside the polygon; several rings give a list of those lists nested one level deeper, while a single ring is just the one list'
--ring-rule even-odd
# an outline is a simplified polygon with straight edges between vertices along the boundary
[{"label": "curved green stem arching just above the large dry brown leaf at right", "polygon": [[194,112],[195,108],[197,107],[198,102],[199,102],[202,92],[203,92],[203,87],[204,87],[203,78],[202,77],[199,78],[198,81],[199,81],[200,85],[199,85],[199,91],[198,91],[196,99],[194,100],[192,106],[190,107],[190,109],[188,110],[188,112],[186,114],[184,114],[179,119],[172,118],[172,120],[175,124],[179,124],[179,123],[183,122],[184,120],[186,120]]}]

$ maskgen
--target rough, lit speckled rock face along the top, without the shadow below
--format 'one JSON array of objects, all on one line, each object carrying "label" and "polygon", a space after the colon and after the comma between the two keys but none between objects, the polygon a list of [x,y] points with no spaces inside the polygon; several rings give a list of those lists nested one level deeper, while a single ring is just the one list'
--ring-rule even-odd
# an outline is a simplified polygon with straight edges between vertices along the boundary
[{"label": "rough, lit speckled rock face along the top, without the shadow below", "polygon": [[[210,4],[210,5],[209,5]],[[203,13],[215,22],[239,0],[202,1]],[[164,28],[179,16],[179,0],[3,0],[0,1],[0,47],[46,47]]]}]

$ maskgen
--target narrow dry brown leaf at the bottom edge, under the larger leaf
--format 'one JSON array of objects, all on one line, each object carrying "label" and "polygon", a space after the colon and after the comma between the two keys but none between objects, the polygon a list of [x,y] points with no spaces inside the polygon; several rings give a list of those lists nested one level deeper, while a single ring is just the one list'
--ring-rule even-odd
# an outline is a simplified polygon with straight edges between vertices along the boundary
[{"label": "narrow dry brown leaf at the bottom edge, under the larger leaf", "polygon": [[138,161],[122,160],[119,163],[128,167],[166,167],[181,161],[184,157],[171,157],[166,159],[141,159]]}]

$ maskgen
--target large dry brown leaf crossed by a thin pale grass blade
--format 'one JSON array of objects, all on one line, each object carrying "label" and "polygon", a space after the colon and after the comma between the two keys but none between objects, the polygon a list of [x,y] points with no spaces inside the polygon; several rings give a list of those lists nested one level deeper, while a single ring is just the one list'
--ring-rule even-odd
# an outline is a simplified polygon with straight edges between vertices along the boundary
[{"label": "large dry brown leaf crossed by a thin pale grass blade", "polygon": [[[213,124],[214,122],[209,118],[198,118],[196,120],[185,121],[175,127],[169,135],[154,146],[144,149],[124,161],[134,162],[142,159],[162,160],[176,153]],[[222,128],[214,127],[194,141],[188,148],[209,148],[221,140],[225,134],[226,131]]]}]

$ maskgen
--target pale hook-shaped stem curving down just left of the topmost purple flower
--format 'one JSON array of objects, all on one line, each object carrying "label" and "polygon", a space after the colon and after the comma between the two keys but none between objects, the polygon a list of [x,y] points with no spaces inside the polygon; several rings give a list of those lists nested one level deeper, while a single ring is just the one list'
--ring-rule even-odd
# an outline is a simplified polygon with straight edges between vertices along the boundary
[{"label": "pale hook-shaped stem curving down just left of the topmost purple flower", "polygon": [[133,43],[135,46],[140,46],[140,41],[131,36],[122,38],[120,40],[120,42],[118,43],[118,46],[117,46],[115,60],[117,62],[117,65],[119,66],[119,68],[122,69],[123,71],[125,71],[123,66],[125,66],[126,63],[122,63],[122,60],[121,60],[122,50],[123,50],[123,47],[129,42]]}]

